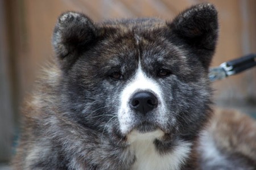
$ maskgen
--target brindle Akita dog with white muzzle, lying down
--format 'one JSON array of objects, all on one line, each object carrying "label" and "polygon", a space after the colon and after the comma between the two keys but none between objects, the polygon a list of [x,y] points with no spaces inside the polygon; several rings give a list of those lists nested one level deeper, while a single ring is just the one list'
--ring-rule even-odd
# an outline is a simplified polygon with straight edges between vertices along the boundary
[{"label": "brindle Akita dog with white muzzle, lying down", "polygon": [[255,122],[211,109],[217,37],[205,3],[172,21],[65,12],[56,63],[23,109],[15,169],[255,169]]}]

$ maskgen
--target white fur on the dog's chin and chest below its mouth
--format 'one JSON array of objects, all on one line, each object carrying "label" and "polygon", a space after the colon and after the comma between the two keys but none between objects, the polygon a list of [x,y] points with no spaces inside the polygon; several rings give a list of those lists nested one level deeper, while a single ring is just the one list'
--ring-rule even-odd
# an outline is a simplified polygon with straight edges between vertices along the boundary
[{"label": "white fur on the dog's chin and chest below its mouth", "polygon": [[180,169],[191,151],[191,143],[180,141],[180,145],[173,148],[170,153],[160,155],[153,142],[162,136],[161,130],[151,133],[139,133],[134,130],[129,134],[130,150],[136,156],[131,169]]}]

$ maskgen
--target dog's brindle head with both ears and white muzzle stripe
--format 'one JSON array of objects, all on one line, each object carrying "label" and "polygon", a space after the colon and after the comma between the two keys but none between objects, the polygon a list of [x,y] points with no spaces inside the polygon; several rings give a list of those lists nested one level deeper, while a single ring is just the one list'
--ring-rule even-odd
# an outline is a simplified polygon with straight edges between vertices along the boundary
[{"label": "dog's brindle head with both ears and white muzzle stripe", "polygon": [[53,34],[65,112],[119,143],[131,131],[191,140],[209,116],[216,39],[217,12],[206,4],[172,22],[94,24],[83,14],[65,13]]}]

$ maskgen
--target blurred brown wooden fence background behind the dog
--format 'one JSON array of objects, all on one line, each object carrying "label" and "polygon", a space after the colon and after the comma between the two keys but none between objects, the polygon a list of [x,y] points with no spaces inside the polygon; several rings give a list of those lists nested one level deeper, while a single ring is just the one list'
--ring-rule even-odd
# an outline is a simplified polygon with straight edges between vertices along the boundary
[{"label": "blurred brown wooden fence background behind the dog", "polygon": [[[0,169],[13,154],[20,104],[36,75],[54,54],[51,35],[57,16],[84,12],[94,21],[156,16],[171,20],[200,2],[216,5],[220,37],[212,67],[256,53],[255,0],[0,0]],[[213,83],[217,105],[256,115],[256,67]]]}]

